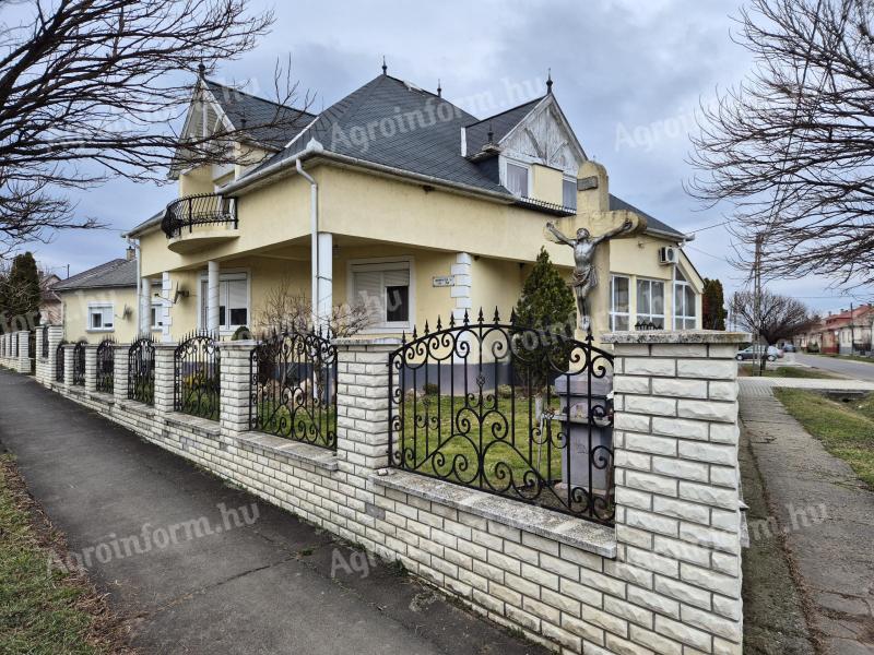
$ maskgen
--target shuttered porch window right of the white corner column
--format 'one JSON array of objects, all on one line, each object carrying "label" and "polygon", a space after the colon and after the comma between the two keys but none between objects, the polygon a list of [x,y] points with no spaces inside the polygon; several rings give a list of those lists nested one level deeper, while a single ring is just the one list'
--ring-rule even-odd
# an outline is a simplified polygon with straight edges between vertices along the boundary
[{"label": "shuttered porch window right of the white corner column", "polygon": [[367,308],[370,329],[409,329],[411,296],[410,262],[352,264],[351,303]]}]

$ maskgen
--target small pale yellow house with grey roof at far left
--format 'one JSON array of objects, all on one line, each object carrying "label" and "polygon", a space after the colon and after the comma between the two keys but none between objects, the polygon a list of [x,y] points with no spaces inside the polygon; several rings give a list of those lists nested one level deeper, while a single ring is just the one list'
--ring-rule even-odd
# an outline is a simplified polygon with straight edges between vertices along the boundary
[{"label": "small pale yellow house with grey roof at far left", "polygon": [[[129,343],[138,329],[138,262],[131,257],[114,259],[57,283],[62,303],[64,338],[99,343],[113,338]],[[161,300],[150,303],[150,330],[161,330]]]}]

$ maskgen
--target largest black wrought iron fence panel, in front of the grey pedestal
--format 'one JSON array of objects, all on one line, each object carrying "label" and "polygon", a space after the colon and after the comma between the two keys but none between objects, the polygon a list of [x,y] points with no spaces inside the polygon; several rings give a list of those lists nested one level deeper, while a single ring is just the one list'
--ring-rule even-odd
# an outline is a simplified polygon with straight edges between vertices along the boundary
[{"label": "largest black wrought iron fence panel, in front of the grey pedestal", "polygon": [[612,365],[497,311],[426,324],[389,357],[390,465],[611,523]]}]

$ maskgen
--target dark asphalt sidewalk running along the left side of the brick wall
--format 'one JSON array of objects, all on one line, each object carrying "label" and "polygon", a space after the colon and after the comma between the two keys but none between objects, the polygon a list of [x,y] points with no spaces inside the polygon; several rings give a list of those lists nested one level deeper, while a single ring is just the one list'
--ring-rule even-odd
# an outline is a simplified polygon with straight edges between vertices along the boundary
[{"label": "dark asphalt sidewalk running along the left side of the brick wall", "polygon": [[143,653],[547,652],[8,371],[0,443]]}]

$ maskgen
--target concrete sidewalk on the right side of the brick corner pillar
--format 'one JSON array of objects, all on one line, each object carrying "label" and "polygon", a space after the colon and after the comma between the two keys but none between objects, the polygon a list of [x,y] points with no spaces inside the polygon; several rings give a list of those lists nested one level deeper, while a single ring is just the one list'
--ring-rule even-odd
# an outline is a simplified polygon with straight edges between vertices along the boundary
[{"label": "concrete sidewalk on the right side of the brick corner pillar", "polygon": [[751,517],[751,539],[775,527],[782,536],[826,653],[874,655],[874,492],[769,386],[741,381],[741,418],[779,522]]}]

